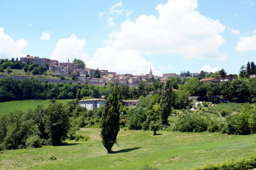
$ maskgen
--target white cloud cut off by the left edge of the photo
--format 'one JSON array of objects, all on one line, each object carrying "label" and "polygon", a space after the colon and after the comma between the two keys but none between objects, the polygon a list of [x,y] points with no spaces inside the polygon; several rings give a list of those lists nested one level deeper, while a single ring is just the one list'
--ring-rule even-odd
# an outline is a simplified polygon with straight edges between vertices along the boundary
[{"label": "white cloud cut off by the left edge of the photo", "polygon": [[4,28],[0,28],[0,56],[1,58],[20,57],[22,50],[28,46],[28,42],[21,38],[14,41],[9,35],[4,34]]}]

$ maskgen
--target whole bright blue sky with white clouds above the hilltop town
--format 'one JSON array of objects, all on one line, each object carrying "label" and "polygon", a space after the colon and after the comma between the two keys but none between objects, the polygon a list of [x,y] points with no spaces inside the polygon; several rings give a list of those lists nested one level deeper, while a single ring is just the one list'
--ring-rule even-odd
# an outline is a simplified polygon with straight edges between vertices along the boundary
[{"label": "whole bright blue sky with white clouds above the hilltop town", "polygon": [[256,62],[256,0],[0,0],[0,58],[81,59],[119,74],[238,74]]}]

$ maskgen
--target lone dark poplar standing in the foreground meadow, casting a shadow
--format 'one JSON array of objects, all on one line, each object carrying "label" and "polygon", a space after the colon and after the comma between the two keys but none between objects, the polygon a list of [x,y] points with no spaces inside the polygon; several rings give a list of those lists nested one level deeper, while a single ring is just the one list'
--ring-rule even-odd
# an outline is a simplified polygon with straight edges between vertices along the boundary
[{"label": "lone dark poplar standing in the foreground meadow, casting a shadow", "polygon": [[112,93],[106,100],[106,104],[102,113],[100,137],[102,144],[108,153],[112,151],[113,145],[116,143],[116,137],[120,130],[119,108],[116,86],[112,88]]}]

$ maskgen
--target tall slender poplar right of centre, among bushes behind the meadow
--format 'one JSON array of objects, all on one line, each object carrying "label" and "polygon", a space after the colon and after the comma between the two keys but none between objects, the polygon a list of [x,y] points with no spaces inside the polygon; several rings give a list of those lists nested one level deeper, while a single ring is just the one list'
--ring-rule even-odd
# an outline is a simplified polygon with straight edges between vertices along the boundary
[{"label": "tall slender poplar right of centre, among bushes behind the meadow", "polygon": [[177,86],[177,80],[174,77],[171,77],[166,79],[165,84],[162,87],[160,111],[163,125],[167,124],[167,119],[172,112],[172,103],[174,100],[173,89],[176,89]]}]

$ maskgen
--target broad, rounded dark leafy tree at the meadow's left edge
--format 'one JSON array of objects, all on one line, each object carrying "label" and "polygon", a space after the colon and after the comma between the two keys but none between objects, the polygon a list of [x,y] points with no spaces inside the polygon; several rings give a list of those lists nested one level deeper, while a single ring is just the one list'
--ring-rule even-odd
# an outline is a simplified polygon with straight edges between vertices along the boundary
[{"label": "broad, rounded dark leafy tree at the meadow's left edge", "polygon": [[49,104],[45,109],[45,131],[53,145],[61,144],[70,127],[68,110],[61,102]]}]

